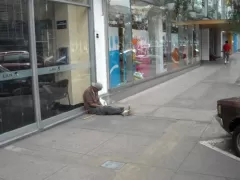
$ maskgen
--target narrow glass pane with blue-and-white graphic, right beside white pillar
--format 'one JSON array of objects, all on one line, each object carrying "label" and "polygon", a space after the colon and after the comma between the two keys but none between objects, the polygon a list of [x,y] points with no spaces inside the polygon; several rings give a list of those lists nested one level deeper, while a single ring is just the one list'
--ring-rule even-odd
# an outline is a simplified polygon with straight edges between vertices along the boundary
[{"label": "narrow glass pane with blue-and-white graphic, right beside white pillar", "polygon": [[108,2],[109,86],[133,81],[132,16],[129,0]]}]

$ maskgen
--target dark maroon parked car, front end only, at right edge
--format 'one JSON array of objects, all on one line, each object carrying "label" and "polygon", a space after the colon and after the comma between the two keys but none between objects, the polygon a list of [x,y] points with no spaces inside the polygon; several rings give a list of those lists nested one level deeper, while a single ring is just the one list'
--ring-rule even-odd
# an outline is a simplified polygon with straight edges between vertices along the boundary
[{"label": "dark maroon parked car, front end only, at right edge", "polygon": [[233,149],[240,157],[240,97],[219,100],[216,120],[232,135]]}]

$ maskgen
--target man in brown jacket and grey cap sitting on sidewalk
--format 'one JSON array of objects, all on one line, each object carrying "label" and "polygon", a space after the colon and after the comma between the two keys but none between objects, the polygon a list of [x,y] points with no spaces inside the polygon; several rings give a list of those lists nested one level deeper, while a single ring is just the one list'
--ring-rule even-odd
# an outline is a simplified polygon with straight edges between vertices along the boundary
[{"label": "man in brown jacket and grey cap sitting on sidewalk", "polygon": [[130,115],[130,107],[125,110],[123,107],[103,106],[99,100],[98,91],[102,90],[102,84],[92,83],[83,94],[84,108],[89,114],[96,115]]}]

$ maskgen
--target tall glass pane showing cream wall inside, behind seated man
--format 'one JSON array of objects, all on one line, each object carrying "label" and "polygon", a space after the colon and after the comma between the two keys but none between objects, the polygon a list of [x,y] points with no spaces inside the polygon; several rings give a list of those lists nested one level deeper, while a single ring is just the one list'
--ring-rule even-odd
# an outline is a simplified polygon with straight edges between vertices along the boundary
[{"label": "tall glass pane showing cream wall inside, behind seated man", "polygon": [[88,9],[35,0],[35,27],[41,115],[47,119],[81,106],[90,85]]}]

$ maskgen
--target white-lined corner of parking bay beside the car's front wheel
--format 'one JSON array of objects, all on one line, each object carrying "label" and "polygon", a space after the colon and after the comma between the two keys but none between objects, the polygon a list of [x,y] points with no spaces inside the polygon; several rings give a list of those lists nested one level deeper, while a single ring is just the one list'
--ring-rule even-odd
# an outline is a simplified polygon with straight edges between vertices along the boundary
[{"label": "white-lined corner of parking bay beside the car's front wheel", "polygon": [[232,139],[231,138],[221,138],[221,139],[213,139],[208,141],[200,141],[200,144],[217,151],[221,154],[224,154],[225,156],[228,156],[232,159],[235,159],[237,161],[240,161],[240,158],[238,158],[233,150],[232,150]]}]

